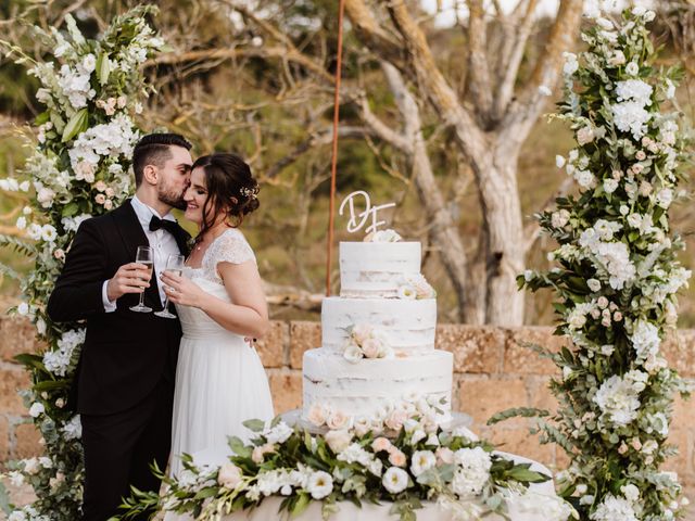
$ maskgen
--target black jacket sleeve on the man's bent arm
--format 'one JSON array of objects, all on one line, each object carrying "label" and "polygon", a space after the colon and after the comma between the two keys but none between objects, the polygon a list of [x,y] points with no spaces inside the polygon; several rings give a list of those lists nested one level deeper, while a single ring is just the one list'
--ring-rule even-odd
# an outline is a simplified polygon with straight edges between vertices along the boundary
[{"label": "black jacket sleeve on the man's bent arm", "polygon": [[77,230],[65,258],[46,312],[51,320],[81,320],[104,312],[102,287],[112,274],[106,274],[106,247],[93,220],[86,220]]}]

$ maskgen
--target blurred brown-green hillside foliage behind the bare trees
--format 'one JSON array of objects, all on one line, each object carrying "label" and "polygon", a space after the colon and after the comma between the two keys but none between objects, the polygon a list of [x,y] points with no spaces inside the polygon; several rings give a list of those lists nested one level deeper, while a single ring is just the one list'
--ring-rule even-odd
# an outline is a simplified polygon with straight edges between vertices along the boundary
[{"label": "blurred brown-green hillside foliage behind the bare trees", "polygon": [[[0,5],[0,30],[25,49],[41,49],[28,39],[25,26],[12,22],[22,20],[42,25],[54,25],[72,12],[80,28],[96,36],[117,13],[137,2],[124,0],[97,0],[90,2],[54,1],[36,2],[9,0]],[[253,35],[235,29],[235,20],[224,15],[224,2],[207,0],[162,0],[156,2],[161,14],[153,20],[167,42],[179,50],[233,49],[238,46],[257,45]],[[330,0],[296,1],[271,0],[262,2],[264,9],[274,12],[274,21],[285,34],[302,49],[331,56],[336,49],[337,2]],[[666,10],[679,2],[658,2]],[[680,3],[685,3],[684,1]],[[349,29],[349,26],[346,26]],[[540,39],[547,23],[540,22],[535,36]],[[672,38],[671,24],[664,16],[655,23],[657,45],[665,46],[664,60],[668,63],[683,61],[682,41]],[[456,49],[465,46],[459,29],[442,29],[427,23],[429,40],[437,51],[442,68],[453,77],[465,78],[466,65],[457,60]],[[681,47],[679,47],[679,45]],[[530,46],[527,60],[542,52],[539,46]],[[383,76],[374,64],[364,63],[364,55],[350,30],[344,51],[344,81],[362,81],[368,86],[372,110],[384,119],[393,115],[393,100]],[[691,54],[692,55],[692,54]],[[333,62],[328,59],[328,72]],[[693,71],[694,63],[684,62]],[[325,238],[328,223],[328,176],[330,147],[318,144],[290,163],[277,174],[275,166],[298,147],[311,131],[329,125],[332,115],[332,98],[329,90],[319,96],[308,96],[304,86],[293,84],[277,61],[244,56],[236,60],[193,61],[182,65],[157,65],[147,69],[154,80],[159,94],[151,97],[141,115],[140,126],[148,130],[167,127],[187,136],[194,142],[194,154],[213,150],[232,150],[248,157],[262,182],[261,209],[244,224],[251,244],[260,259],[263,277],[271,284],[291,285],[312,293],[324,291]],[[359,74],[358,74],[359,73]],[[692,74],[690,75],[692,78]],[[374,79],[374,81],[370,81]],[[366,80],[366,81],[365,81]],[[17,127],[38,113],[33,99],[34,79],[10,60],[0,59],[0,177],[11,176],[21,168],[27,151],[22,148]],[[559,88],[548,99],[547,112],[559,97]],[[678,97],[681,109],[693,117],[692,79],[684,81]],[[424,112],[424,115],[426,113]],[[395,116],[393,116],[395,120]],[[426,129],[438,181],[448,194],[447,203],[456,209],[458,228],[465,243],[476,246],[477,229],[482,216],[471,183],[471,174],[457,152],[447,145],[447,131],[438,125],[437,117],[428,111]],[[357,122],[350,107],[341,112],[345,124]],[[532,214],[542,208],[563,182],[565,174],[555,167],[555,154],[571,148],[571,135],[559,123],[541,119],[525,144],[520,156],[518,179],[523,215],[527,224]],[[452,165],[458,169],[452,173]],[[338,198],[357,189],[366,189],[377,203],[395,201],[397,209],[392,214],[393,227],[406,238],[425,242],[424,272],[438,289],[440,321],[456,321],[456,300],[450,289],[446,274],[438,254],[427,249],[427,226],[414,187],[397,153],[378,142],[365,139],[343,139],[339,148]],[[463,173],[463,175],[454,175]],[[692,190],[692,181],[684,185]],[[21,233],[14,229],[23,204],[21,194],[0,192],[0,230]],[[688,243],[683,264],[695,264],[695,209],[681,204],[673,212],[673,228],[680,230]],[[349,238],[344,221],[337,219],[338,240]],[[545,252],[553,249],[548,239],[540,239],[533,254],[527,259],[530,268],[545,268]],[[0,263],[7,263],[22,272],[29,262],[10,252],[0,252]],[[338,277],[337,263],[332,276]],[[2,276],[0,276],[2,277]],[[0,280],[0,307],[4,310],[16,303],[18,284],[3,277]],[[681,300],[681,327],[695,327],[695,287]],[[300,310],[274,306],[274,318],[318,318],[316,310]],[[549,295],[542,292],[527,295],[528,323],[551,323],[553,309]]]}]

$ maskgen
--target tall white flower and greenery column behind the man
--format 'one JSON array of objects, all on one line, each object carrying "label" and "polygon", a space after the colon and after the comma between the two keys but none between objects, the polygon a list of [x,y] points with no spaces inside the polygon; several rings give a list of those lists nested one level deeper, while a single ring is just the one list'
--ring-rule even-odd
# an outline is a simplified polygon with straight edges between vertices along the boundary
[{"label": "tall white flower and greenery column behind the man", "polygon": [[31,320],[47,345],[42,354],[17,356],[31,376],[33,386],[23,396],[46,456],[10,463],[11,481],[30,484],[37,496],[33,505],[12,511],[10,521],[79,518],[81,425],[67,397],[85,329],[52,323],[45,306],[79,224],[131,193],[130,156],[139,138],[131,115],[142,111],[140,100],[151,90],[140,65],[163,47],[146,20],[153,11],[141,7],[118,16],[98,41],[85,38],[70,15],[65,33],[35,27],[36,39],[50,50],[49,61],[37,62],[0,41],[0,49],[38,78],[36,98],[46,107],[36,118],[35,136],[26,135],[31,154],[21,178],[0,181],[0,189],[31,196],[16,221],[31,241],[0,236],[0,244],[35,259],[21,280],[24,302],[14,312]]}]

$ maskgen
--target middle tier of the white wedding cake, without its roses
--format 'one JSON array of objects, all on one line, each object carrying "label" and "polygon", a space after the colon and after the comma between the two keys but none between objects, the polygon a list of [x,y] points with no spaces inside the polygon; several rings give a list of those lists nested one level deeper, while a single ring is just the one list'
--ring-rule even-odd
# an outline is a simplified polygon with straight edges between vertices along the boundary
[{"label": "middle tier of the white wedding cake, without its roses", "polygon": [[325,350],[342,353],[350,330],[355,326],[374,328],[396,353],[431,352],[437,329],[437,300],[324,298],[321,345]]}]

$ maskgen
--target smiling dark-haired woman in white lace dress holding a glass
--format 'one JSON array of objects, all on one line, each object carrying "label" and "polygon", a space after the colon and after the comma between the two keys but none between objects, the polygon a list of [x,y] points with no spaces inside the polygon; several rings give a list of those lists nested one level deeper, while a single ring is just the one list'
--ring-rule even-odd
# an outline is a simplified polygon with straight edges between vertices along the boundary
[{"label": "smiling dark-haired woman in white lace dress holding a glass", "polygon": [[184,336],[174,395],[170,475],[180,455],[222,465],[227,437],[244,440],[248,419],[273,418],[270,389],[256,351],[244,338],[263,336],[268,310],[255,256],[238,226],[258,207],[258,185],[239,156],[215,153],[191,169],[186,218],[200,232],[184,276],[162,275]]}]

